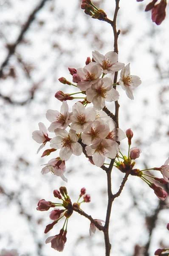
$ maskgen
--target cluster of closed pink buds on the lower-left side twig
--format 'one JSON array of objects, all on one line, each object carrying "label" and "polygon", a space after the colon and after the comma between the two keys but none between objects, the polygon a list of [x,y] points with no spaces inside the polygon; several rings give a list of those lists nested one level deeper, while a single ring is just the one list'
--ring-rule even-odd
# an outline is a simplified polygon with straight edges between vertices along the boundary
[{"label": "cluster of closed pink buds on the lower-left side twig", "polygon": [[[79,202],[80,198],[83,200]],[[51,201],[45,201],[45,199],[41,199],[37,204],[38,211],[48,211],[51,207],[62,207],[63,209],[54,208],[50,213],[50,218],[53,220],[51,224],[48,224],[45,228],[45,234],[48,233],[55,224],[58,223],[59,220],[65,217],[65,222],[60,230],[59,234],[56,236],[50,236],[46,239],[45,243],[51,243],[51,247],[55,250],[62,252],[65,247],[66,242],[66,234],[67,234],[67,226],[68,219],[73,213],[73,209],[80,209],[80,205],[84,202],[90,202],[90,195],[86,194],[86,189],[82,188],[81,193],[79,195],[79,199],[77,203],[72,204],[70,197],[68,196],[67,189],[65,187],[60,187],[59,190],[54,190],[54,197],[62,200],[61,203],[52,203]]]}]

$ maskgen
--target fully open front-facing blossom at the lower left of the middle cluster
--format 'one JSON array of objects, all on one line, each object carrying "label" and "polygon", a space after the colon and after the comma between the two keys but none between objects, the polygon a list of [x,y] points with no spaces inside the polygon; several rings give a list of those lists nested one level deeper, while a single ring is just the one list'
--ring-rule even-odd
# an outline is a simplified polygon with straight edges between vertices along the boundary
[{"label": "fully open front-facing blossom at the lower left of the middle cluster", "polygon": [[51,148],[59,149],[59,156],[61,160],[69,160],[72,154],[80,156],[82,154],[82,146],[78,143],[78,136],[76,131],[70,129],[69,133],[66,130],[57,128],[55,130],[56,137],[51,139]]}]

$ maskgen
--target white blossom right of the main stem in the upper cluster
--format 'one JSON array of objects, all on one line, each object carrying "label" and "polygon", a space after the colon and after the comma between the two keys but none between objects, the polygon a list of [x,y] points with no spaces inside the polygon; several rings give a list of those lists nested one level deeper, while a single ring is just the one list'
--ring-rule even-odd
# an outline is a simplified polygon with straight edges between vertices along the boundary
[{"label": "white blossom right of the main stem in the upper cluster", "polygon": [[130,63],[121,70],[118,83],[121,85],[122,89],[126,91],[129,99],[134,99],[132,90],[141,84],[141,80],[138,76],[130,75]]}]

